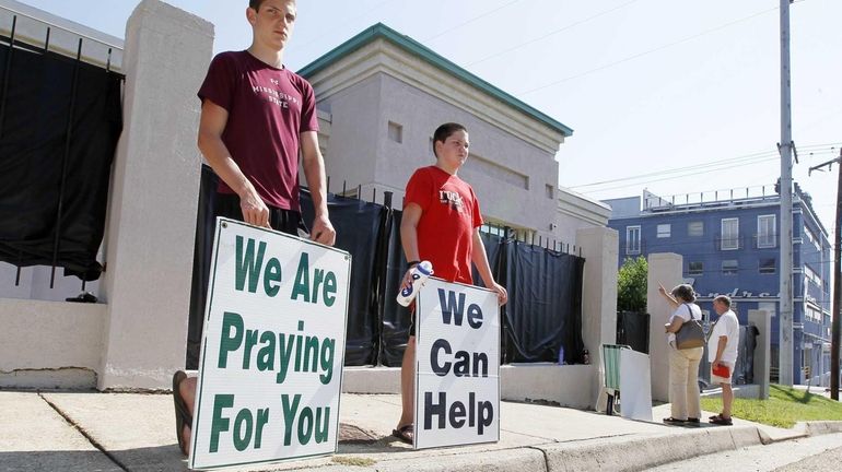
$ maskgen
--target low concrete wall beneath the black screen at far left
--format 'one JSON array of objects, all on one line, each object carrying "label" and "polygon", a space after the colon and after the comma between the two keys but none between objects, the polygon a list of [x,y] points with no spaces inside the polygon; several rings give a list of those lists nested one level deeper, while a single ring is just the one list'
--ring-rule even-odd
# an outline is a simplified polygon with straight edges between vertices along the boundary
[{"label": "low concrete wall beneath the black screen at far left", "polygon": [[106,306],[0,298],[0,387],[91,388]]}]

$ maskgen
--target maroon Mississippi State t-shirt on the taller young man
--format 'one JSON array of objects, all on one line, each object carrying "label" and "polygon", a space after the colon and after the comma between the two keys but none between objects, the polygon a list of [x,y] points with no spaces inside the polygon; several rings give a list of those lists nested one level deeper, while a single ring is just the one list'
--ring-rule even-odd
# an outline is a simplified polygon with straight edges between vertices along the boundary
[{"label": "maroon Mississippi State t-shirt on the taller young man", "polygon": [[[227,110],[222,142],[260,198],[299,210],[299,134],[318,130],[309,83],[248,51],[229,51],[211,61],[199,98]],[[234,193],[221,179],[218,191]]]}]

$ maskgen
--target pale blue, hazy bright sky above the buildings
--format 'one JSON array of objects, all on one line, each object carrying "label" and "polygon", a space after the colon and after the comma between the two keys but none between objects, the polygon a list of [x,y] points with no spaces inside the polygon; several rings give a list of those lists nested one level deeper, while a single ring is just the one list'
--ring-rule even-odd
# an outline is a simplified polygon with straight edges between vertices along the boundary
[{"label": "pale blue, hazy bright sky above the buildings", "polygon": [[[23,0],[122,38],[136,0]],[[245,49],[246,0],[169,0]],[[103,7],[107,4],[107,7]],[[780,0],[299,0],[297,70],[382,22],[572,128],[559,184],[592,199],[771,186]],[[791,5],[793,177],[831,232],[842,146],[842,1]],[[745,192],[746,190],[741,190]],[[722,194],[722,193],[721,193]],[[739,194],[739,192],[737,192]],[[681,201],[685,197],[678,197]],[[698,197],[697,197],[698,198]],[[832,240],[832,239],[831,239]]]}]

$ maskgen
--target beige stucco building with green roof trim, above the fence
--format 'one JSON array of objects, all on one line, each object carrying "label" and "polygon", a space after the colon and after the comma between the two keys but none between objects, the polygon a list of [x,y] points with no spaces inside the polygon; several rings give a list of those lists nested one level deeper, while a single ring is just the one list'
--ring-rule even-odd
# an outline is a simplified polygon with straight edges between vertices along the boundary
[{"label": "beige stucco building with green roof trim, above the fence", "polygon": [[608,206],[558,188],[556,153],[572,129],[388,26],[299,72],[316,91],[331,191],[391,191],[400,208],[412,172],[435,162],[433,131],[456,121],[471,141],[459,175],[488,222],[571,244],[575,229],[607,224]]}]

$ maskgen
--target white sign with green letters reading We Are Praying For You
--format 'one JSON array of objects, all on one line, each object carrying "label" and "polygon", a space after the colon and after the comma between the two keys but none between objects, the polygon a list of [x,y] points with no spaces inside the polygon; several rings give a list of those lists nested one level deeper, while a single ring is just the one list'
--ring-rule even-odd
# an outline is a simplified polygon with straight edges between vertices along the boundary
[{"label": "white sign with green letters reading We Are Praying For You", "polygon": [[330,455],[351,257],[218,219],[190,469]]}]

